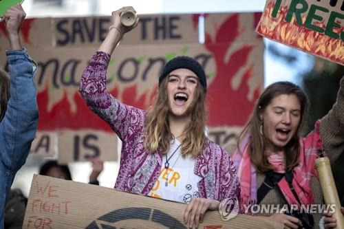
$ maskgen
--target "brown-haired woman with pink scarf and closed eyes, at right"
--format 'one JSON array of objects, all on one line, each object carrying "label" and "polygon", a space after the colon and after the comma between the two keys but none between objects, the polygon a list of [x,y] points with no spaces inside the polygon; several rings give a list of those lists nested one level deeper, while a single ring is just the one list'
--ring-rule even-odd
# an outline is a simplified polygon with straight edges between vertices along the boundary
[{"label": "brown-haired woman with pink scarf and closed eyes, at right", "polygon": [[[332,110],[318,120],[305,138],[300,136],[308,99],[289,82],[268,86],[257,101],[237,145],[224,148],[233,155],[244,204],[322,204],[314,162],[323,152],[334,162],[344,151],[344,78]],[[294,215],[295,216],[295,215]],[[321,214],[269,217],[285,228],[318,228]],[[325,220],[330,222],[330,217]],[[332,224],[328,224],[329,228]]]}]

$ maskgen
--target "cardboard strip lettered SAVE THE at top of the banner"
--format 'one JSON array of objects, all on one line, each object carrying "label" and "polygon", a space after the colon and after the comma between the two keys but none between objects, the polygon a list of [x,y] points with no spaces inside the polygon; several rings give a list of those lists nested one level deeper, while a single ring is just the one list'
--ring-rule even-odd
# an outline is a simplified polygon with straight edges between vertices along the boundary
[{"label": "cardboard strip lettered SAVE THE at top of the banner", "polygon": [[[138,27],[125,34],[124,44],[197,43],[198,24],[193,14],[138,15]],[[105,40],[111,17],[54,19],[56,47],[98,46]]]}]

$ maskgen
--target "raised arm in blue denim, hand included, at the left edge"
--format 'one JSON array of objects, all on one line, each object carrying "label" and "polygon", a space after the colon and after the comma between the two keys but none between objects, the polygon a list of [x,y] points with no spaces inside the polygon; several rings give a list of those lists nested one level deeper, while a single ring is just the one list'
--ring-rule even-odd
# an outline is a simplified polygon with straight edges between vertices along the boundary
[{"label": "raised arm in blue denim, hand included, at the left edge", "polygon": [[6,52],[10,69],[10,99],[0,120],[0,228],[3,228],[3,210],[10,186],[28,157],[38,120],[33,79],[37,65],[23,50],[19,39],[24,18],[25,12],[19,4],[3,15],[11,50]]}]

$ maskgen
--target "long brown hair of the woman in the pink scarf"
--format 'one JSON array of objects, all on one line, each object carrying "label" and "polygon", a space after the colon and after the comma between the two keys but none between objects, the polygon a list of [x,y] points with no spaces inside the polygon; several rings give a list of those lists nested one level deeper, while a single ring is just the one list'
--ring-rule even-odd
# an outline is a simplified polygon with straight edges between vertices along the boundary
[{"label": "long brown hair of the woman in the pink scarf", "polygon": [[301,105],[301,118],[299,126],[297,127],[297,131],[283,149],[286,155],[287,171],[292,171],[292,168],[297,166],[299,162],[299,136],[305,121],[306,113],[308,112],[308,97],[299,86],[294,85],[293,83],[287,81],[277,82],[268,86],[263,91],[263,94],[261,94],[259,97],[257,104],[255,105],[255,109],[250,116],[248,123],[246,124],[246,127],[244,127],[243,131],[241,131],[239,140],[237,142],[237,149],[240,149],[239,145],[241,141],[246,135],[250,134],[250,143],[248,146],[250,160],[253,164],[255,164],[255,166],[257,166],[259,171],[266,172],[272,169],[271,164],[268,162],[268,157],[266,153],[264,153],[268,139],[264,133],[263,135],[260,133],[261,125],[264,123],[262,120],[260,120],[259,115],[264,112],[266,107],[274,98],[282,94],[293,94],[297,96]]}]

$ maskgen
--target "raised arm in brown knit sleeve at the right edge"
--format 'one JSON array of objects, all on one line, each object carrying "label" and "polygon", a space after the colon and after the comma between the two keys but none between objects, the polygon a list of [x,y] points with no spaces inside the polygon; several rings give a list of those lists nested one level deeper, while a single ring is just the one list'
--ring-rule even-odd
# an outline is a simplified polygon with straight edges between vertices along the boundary
[{"label": "raised arm in brown knit sleeve at the right edge", "polygon": [[344,77],[340,84],[336,103],[320,123],[325,153],[331,164],[344,151]]}]

